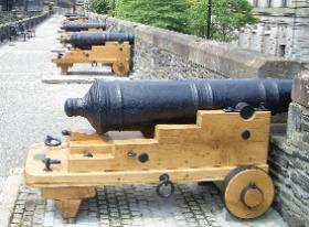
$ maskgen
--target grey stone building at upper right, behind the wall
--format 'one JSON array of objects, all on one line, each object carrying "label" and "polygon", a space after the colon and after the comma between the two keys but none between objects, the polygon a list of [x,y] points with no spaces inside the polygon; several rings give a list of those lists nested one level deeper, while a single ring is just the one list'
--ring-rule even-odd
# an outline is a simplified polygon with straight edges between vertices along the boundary
[{"label": "grey stone building at upper right, behind the wall", "polygon": [[309,64],[309,1],[248,1],[260,22],[243,29],[237,45]]}]

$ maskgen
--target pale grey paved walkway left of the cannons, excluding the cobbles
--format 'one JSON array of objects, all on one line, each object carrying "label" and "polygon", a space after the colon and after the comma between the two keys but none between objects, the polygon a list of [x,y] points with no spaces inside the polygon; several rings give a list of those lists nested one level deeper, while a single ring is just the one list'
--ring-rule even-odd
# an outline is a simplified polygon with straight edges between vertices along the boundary
[{"label": "pale grey paved walkway left of the cannons, excluding the cobbles", "polygon": [[55,55],[51,50],[58,45],[62,20],[55,17],[42,23],[34,39],[0,46],[0,177],[23,165],[31,143],[42,141],[49,133],[60,136],[72,125],[87,126],[84,119],[67,118],[63,104],[68,97],[83,96],[89,84],[41,82],[42,77],[60,75],[51,63]]}]

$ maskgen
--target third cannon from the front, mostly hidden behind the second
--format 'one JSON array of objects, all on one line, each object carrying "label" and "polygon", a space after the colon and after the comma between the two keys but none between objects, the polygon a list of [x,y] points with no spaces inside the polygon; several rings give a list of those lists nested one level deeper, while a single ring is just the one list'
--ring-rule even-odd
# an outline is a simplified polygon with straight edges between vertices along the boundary
[{"label": "third cannon from the front, mostly hidden behind the second", "polygon": [[71,35],[74,32],[104,32],[106,31],[106,24],[103,23],[81,23],[81,24],[64,24],[61,26],[61,30],[64,31],[60,36],[60,42],[65,44],[71,40]]}]

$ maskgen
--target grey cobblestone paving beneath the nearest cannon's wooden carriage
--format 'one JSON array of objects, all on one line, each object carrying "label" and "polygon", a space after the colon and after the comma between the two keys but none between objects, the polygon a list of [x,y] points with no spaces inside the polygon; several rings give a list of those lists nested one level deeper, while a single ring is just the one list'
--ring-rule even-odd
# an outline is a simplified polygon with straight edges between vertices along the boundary
[{"label": "grey cobblestone paving beneath the nearest cannon's wooden carriage", "polygon": [[[215,215],[223,204],[212,184],[178,184],[175,194],[162,199],[154,186],[97,187],[97,196],[84,201],[76,227],[86,226],[220,226]],[[38,190],[21,187],[10,227],[65,225],[53,201]]]}]

